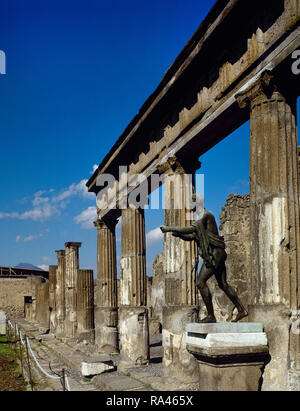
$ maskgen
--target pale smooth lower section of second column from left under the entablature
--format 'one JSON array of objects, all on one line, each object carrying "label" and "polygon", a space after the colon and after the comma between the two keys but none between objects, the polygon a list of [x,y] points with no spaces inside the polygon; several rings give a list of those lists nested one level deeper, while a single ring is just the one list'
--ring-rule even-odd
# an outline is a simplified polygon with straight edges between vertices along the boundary
[{"label": "pale smooth lower section of second column from left under the entablature", "polygon": [[118,370],[149,364],[149,325],[146,307],[119,309],[120,363]]}]

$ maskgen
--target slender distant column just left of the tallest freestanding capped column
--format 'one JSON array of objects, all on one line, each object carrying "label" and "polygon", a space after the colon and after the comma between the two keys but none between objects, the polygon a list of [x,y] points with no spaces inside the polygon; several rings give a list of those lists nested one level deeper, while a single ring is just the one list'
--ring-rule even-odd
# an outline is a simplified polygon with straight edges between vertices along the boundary
[{"label": "slender distant column just left of the tallest freestanding capped column", "polygon": [[65,250],[56,251],[57,272],[56,272],[56,331],[58,337],[65,335],[66,318],[66,261]]}]

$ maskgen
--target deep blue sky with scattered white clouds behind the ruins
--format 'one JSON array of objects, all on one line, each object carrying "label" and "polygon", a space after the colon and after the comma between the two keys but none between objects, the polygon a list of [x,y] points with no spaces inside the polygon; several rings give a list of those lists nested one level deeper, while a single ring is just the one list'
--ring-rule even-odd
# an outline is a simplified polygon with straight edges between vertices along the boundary
[{"label": "deep blue sky with scattered white clouds behind the ruins", "polygon": [[[81,241],[80,265],[96,272],[95,196],[85,181],[213,4],[1,0],[0,265],[47,267],[65,241]],[[227,195],[248,192],[248,153],[247,123],[202,156],[216,215]],[[149,274],[162,223],[162,211],[146,212]]]}]

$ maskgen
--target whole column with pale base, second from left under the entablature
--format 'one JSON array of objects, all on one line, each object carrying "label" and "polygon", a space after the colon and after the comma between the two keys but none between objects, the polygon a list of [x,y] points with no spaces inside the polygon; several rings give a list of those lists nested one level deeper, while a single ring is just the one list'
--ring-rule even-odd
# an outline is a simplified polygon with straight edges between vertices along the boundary
[{"label": "whole column with pale base, second from left under the entablature", "polygon": [[149,362],[144,210],[122,210],[119,369]]}]

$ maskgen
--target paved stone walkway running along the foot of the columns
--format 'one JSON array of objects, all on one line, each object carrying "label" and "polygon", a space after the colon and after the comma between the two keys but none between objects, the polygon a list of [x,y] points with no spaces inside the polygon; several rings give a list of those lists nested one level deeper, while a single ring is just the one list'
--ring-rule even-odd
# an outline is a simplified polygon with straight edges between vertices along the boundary
[{"label": "paved stone walkway running along the foot of the columns", "polygon": [[[38,324],[32,324],[24,319],[16,320],[23,334],[30,339],[30,345],[40,365],[50,374],[66,370],[71,391],[184,391],[197,390],[197,385],[186,386],[178,381],[165,380],[162,375],[161,336],[154,336],[150,341],[150,364],[132,368],[124,372],[117,371],[119,355],[112,355],[116,366],[115,371],[105,372],[92,379],[81,375],[81,362],[95,357],[93,346],[62,341],[51,334],[43,334]],[[49,363],[50,367],[49,368]],[[52,370],[52,371],[51,371]],[[36,391],[62,391],[59,380],[45,376],[38,367],[34,367],[34,378],[39,382]]]}]

